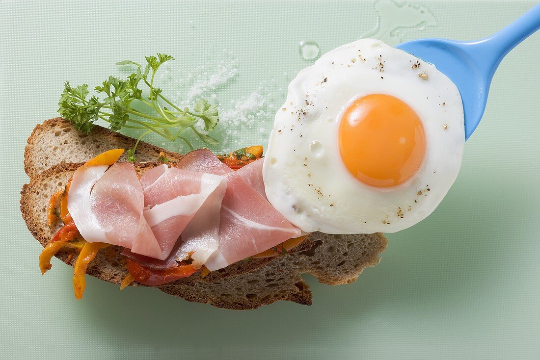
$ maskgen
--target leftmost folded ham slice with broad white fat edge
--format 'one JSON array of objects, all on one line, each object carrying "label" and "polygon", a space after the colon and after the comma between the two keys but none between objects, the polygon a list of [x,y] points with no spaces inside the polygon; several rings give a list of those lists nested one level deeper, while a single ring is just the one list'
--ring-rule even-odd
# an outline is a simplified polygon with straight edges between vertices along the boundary
[{"label": "leftmost folded ham slice with broad white fat edge", "polygon": [[80,235],[89,242],[125,248],[141,239],[156,241],[143,216],[143,188],[133,165],[117,162],[107,167],[84,165],[73,174],[68,210]]}]

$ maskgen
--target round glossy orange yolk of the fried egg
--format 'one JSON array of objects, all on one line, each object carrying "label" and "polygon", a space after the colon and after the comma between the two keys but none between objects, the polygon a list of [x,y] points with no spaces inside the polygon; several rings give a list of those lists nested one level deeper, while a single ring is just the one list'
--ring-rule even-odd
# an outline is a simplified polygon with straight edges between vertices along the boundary
[{"label": "round glossy orange yolk of the fried egg", "polygon": [[416,174],[426,153],[426,137],[409,105],[393,96],[370,94],[355,100],[343,113],[339,149],[356,179],[374,187],[391,187]]}]

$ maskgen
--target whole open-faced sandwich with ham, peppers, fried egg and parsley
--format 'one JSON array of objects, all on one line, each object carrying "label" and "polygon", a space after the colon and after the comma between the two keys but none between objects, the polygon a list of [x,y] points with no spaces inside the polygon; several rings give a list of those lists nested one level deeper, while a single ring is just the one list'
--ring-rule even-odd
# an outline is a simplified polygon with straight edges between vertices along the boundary
[{"label": "whole open-faced sandwich with ham, peppers, fried egg and parsley", "polygon": [[[146,80],[140,65],[134,75]],[[96,88],[109,98],[111,89]],[[343,45],[298,74],[265,156],[262,146],[181,155],[82,126],[81,114],[103,118],[103,108],[141,97],[131,90],[124,105],[91,103],[83,90],[66,84],[60,110],[69,120],[47,120],[29,138],[30,184],[21,196],[28,228],[44,246],[42,273],[52,256],[74,266],[77,298],[90,274],[232,309],[310,304],[301,274],[354,281],[379,262],[387,246],[381,232],[426,218],[461,164],[455,85],[433,65],[376,40]],[[211,117],[206,103],[198,113],[161,108],[153,91],[141,101],[171,124],[174,116],[186,128]],[[134,147],[138,162],[133,150],[124,152]]]}]

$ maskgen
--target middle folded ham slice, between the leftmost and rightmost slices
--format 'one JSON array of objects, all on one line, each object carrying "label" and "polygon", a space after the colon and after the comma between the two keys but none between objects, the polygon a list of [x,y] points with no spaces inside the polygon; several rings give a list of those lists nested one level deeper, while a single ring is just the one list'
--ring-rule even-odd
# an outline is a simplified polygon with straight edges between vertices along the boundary
[{"label": "middle folded ham slice, between the leftmost and rightmost slices", "polygon": [[[155,235],[155,241],[138,239],[133,243],[131,253],[143,254],[170,264],[172,260],[169,257],[180,234],[196,233],[193,239],[187,239],[190,242],[180,244],[177,252],[181,255],[180,260],[191,254],[194,263],[201,266],[218,248],[218,240],[205,237],[196,224],[204,221],[219,223],[217,216],[212,219],[211,210],[212,206],[219,210],[226,182],[224,176],[169,168],[167,165],[146,171],[140,179],[146,206],[144,218]],[[208,219],[202,214],[205,209],[209,212]],[[198,212],[201,215],[195,218]],[[195,239],[195,235],[200,236]],[[157,263],[156,266],[161,264]]]}]

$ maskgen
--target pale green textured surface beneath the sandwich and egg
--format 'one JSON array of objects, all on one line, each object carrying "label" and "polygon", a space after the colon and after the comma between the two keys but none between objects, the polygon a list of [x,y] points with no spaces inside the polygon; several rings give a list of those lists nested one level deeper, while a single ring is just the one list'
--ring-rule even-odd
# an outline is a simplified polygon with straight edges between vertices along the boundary
[{"label": "pale green textured surface beneath the sandwich and egg", "polygon": [[[75,301],[70,267],[53,261],[39,274],[41,248],[18,209],[26,137],[56,116],[63,81],[94,86],[119,74],[114,62],[158,51],[188,73],[226,49],[238,74],[216,99],[266,80],[267,104],[279,107],[277,89],[310,64],[301,40],[326,52],[376,23],[361,0],[84,3],[0,1],[0,358],[540,358],[540,34],[502,62],[447,198],[390,234],[381,263],[355,283],[307,276],[313,306],[241,312],[92,278]],[[424,1],[438,26],[404,39],[480,38],[533,3]],[[258,121],[268,129],[272,116]],[[241,131],[231,147],[260,137]]]}]

